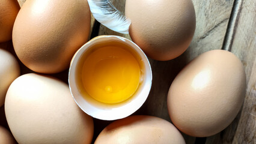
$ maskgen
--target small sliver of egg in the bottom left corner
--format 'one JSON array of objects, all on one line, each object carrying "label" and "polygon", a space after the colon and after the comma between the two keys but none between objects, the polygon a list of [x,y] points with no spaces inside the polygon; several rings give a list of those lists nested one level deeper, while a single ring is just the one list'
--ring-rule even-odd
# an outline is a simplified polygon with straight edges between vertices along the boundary
[{"label": "small sliver of egg in the bottom left corner", "polygon": [[11,133],[0,125],[0,143],[3,144],[14,144],[16,143]]}]

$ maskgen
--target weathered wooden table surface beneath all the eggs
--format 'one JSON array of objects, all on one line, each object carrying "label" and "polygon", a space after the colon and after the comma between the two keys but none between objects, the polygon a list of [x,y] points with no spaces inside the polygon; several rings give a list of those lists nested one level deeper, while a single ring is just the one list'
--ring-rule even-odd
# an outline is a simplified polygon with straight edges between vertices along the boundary
[{"label": "weathered wooden table surface beneath all the eggs", "polygon": [[[135,0],[134,0],[135,1]],[[191,137],[183,134],[186,143],[256,143],[256,1],[254,0],[192,0],[197,16],[197,28],[189,48],[178,58],[171,61],[150,59],[153,71],[153,85],[145,104],[133,115],[152,115],[171,121],[166,106],[169,86],[177,73],[189,61],[213,49],[224,49],[234,53],[242,61],[246,71],[246,96],[243,107],[236,119],[221,133],[210,137]],[[25,0],[19,0],[20,5]],[[113,0],[115,7],[124,12],[125,0]],[[91,20],[91,38],[97,35],[120,35]],[[11,41],[0,44],[13,51]],[[21,64],[22,65],[22,64]],[[24,65],[22,74],[30,73]],[[67,82],[67,70],[52,74]],[[4,113],[1,107],[0,115]],[[111,121],[94,119],[94,140]],[[0,125],[7,125],[5,120]]]}]

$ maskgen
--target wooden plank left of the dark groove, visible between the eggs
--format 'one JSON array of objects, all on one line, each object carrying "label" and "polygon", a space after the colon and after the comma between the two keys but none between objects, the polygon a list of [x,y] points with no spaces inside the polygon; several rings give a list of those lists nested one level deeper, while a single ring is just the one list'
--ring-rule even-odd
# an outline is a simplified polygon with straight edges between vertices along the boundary
[{"label": "wooden plank left of the dark groove, visible between the eggs", "polygon": [[[234,0],[192,1],[197,16],[197,28],[192,43],[183,55],[171,61],[150,59],[153,85],[147,101],[134,115],[153,115],[170,121],[166,96],[174,77],[184,65],[201,53],[222,48]],[[114,0],[113,3],[118,10],[124,11],[124,0]],[[129,38],[129,35],[117,34],[105,26],[100,26],[99,35],[121,35]],[[186,143],[195,142],[195,137],[186,134],[183,136]]]}]

